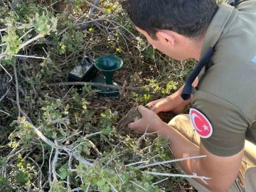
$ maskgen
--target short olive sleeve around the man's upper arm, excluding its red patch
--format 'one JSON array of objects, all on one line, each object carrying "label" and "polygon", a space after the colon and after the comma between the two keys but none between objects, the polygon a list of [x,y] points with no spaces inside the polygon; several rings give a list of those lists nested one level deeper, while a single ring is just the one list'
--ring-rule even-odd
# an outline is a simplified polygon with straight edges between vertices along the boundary
[{"label": "short olive sleeve around the man's upper arm, excluding its red patch", "polygon": [[213,127],[210,137],[201,138],[201,143],[211,154],[233,156],[242,150],[250,121],[238,108],[200,90],[193,95],[193,108],[204,114]]}]

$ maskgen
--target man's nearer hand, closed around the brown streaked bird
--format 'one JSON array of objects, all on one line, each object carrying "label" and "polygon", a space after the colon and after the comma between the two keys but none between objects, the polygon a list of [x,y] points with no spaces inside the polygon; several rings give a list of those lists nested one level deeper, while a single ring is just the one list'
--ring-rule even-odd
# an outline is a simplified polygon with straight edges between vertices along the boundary
[{"label": "man's nearer hand, closed around the brown streaked bird", "polygon": [[158,132],[159,127],[164,123],[158,115],[142,105],[140,105],[138,109],[142,114],[142,119],[128,124],[128,128],[134,130],[137,134]]}]

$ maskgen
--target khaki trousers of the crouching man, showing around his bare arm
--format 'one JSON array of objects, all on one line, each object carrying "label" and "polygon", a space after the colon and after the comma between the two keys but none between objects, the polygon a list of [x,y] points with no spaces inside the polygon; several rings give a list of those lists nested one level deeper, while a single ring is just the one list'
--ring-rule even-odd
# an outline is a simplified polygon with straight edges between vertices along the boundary
[{"label": "khaki trousers of the crouching man, showing around his bare arm", "polygon": [[[199,146],[200,137],[193,129],[193,125],[191,124],[191,120],[188,114],[179,114],[178,116],[174,117],[174,119],[171,119],[171,122],[169,122],[169,126],[177,129],[178,132],[181,132],[181,134],[183,134],[189,141]],[[178,171],[186,174],[181,166],[178,164],[175,164],[175,166]],[[207,188],[194,181],[192,178],[186,178],[186,180],[200,192],[209,191]],[[238,178],[236,178],[235,183],[228,192],[241,191],[256,191],[256,145],[247,140],[245,141],[245,154],[242,158],[240,173],[238,174]]]}]

